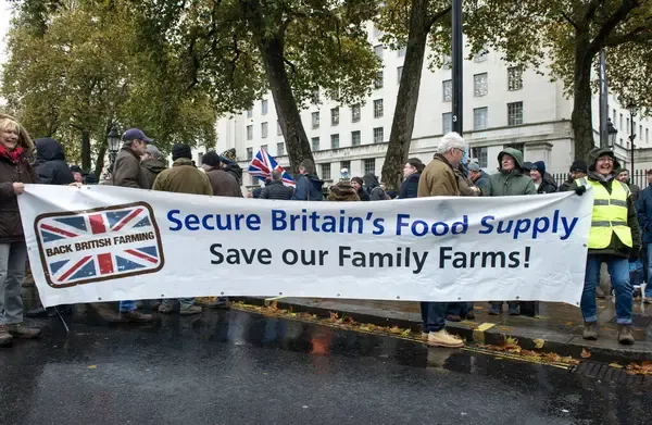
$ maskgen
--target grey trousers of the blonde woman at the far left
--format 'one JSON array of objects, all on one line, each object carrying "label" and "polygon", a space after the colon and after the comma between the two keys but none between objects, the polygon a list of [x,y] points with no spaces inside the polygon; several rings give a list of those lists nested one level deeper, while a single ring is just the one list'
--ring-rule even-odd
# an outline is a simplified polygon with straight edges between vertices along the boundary
[{"label": "grey trousers of the blonde woman at the far left", "polygon": [[23,323],[21,288],[26,262],[25,242],[0,243],[0,325]]}]

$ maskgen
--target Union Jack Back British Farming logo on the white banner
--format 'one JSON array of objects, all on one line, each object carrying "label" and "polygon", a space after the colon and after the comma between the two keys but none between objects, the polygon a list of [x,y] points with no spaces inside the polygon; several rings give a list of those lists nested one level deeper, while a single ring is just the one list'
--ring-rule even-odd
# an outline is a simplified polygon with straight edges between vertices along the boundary
[{"label": "Union Jack Back British Farming logo on the white banner", "polygon": [[159,228],[146,202],[43,214],[36,218],[35,227],[43,272],[52,287],[154,273],[163,267]]}]

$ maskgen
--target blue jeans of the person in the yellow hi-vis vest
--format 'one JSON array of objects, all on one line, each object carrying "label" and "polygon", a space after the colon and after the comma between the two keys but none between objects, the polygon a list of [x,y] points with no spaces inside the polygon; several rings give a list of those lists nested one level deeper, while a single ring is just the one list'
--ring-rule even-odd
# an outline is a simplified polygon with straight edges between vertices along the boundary
[{"label": "blue jeans of the person in the yellow hi-vis vest", "polygon": [[634,309],[634,287],[629,283],[629,261],[619,257],[589,254],[585,288],[581,293],[581,315],[588,323],[598,322],[595,311],[595,287],[600,285],[600,265],[606,263],[612,285],[616,291],[616,322],[618,325],[630,325]]}]

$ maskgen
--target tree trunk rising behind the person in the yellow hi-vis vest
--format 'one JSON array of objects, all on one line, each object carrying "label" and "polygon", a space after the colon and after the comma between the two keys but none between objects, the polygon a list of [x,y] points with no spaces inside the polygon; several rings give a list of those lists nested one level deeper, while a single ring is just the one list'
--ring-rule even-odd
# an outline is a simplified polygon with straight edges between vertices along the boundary
[{"label": "tree trunk rising behind the person in the yellow hi-vis vest", "polygon": [[591,64],[589,36],[576,32],[575,42],[575,85],[570,123],[575,137],[575,158],[584,159],[595,147],[593,138],[593,115],[591,113]]}]

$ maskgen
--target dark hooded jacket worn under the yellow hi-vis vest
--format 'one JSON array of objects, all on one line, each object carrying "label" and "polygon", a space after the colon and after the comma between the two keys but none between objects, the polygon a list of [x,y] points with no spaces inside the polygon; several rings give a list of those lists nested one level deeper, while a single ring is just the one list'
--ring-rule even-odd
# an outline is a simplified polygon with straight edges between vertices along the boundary
[{"label": "dark hooded jacket worn under the yellow hi-vis vest", "polygon": [[[620,182],[615,179],[615,174],[610,174],[606,178],[595,172],[595,162],[604,153],[609,153],[613,157],[613,152],[609,148],[595,148],[589,152],[587,157],[587,164],[589,164],[589,174],[587,178],[592,182],[599,182],[604,188],[611,193],[613,184],[622,184]],[[620,167],[620,164],[614,157],[614,170]],[[577,189],[577,180],[574,182],[568,190]],[[638,252],[641,248],[641,234],[638,223],[637,210],[634,204],[634,199],[631,199],[631,195],[627,198],[627,227],[631,229],[631,242],[632,247],[629,248],[625,243],[618,239],[615,233],[612,234],[612,240],[606,248],[603,249],[589,249],[589,254],[601,254],[601,255],[617,255],[617,257],[629,257],[630,252],[634,250]]]}]

